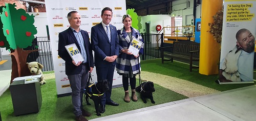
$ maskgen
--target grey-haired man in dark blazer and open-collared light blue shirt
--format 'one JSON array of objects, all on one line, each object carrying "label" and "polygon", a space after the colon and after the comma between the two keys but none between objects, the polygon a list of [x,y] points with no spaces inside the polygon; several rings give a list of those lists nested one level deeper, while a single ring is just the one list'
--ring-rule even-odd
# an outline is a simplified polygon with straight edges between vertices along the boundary
[{"label": "grey-haired man in dark blazer and open-collared light blue shirt", "polygon": [[[68,75],[70,87],[72,90],[72,104],[76,120],[87,120],[84,116],[91,114],[82,107],[83,89],[88,82],[89,71],[92,72],[94,67],[92,46],[89,35],[86,31],[81,30],[81,16],[77,11],[68,13],[70,27],[59,33],[58,55],[65,60],[66,74]],[[65,46],[75,44],[80,51],[83,61],[77,64],[72,60]]]}]

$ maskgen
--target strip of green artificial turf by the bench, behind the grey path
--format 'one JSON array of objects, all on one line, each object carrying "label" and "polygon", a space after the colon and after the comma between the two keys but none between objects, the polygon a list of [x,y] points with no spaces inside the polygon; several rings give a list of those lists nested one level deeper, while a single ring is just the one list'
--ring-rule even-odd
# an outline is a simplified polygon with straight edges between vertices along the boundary
[{"label": "strip of green artificial turf by the bench, behind the grey path", "polygon": [[[199,69],[193,69],[192,72],[189,72],[189,65],[176,62],[164,62],[161,63],[161,59],[151,59],[143,60],[141,62],[141,70],[153,73],[159,73],[167,76],[173,76],[180,79],[185,79],[190,82],[202,85],[208,88],[216,89],[219,91],[226,91],[246,86],[251,86],[254,84],[229,84],[229,85],[219,85],[215,83],[215,80],[218,79],[218,74],[216,75],[202,75],[199,73]],[[254,72],[253,75],[256,75]],[[143,78],[143,75],[142,75]],[[255,78],[256,79],[256,76]],[[171,84],[170,84],[171,85]]]}]

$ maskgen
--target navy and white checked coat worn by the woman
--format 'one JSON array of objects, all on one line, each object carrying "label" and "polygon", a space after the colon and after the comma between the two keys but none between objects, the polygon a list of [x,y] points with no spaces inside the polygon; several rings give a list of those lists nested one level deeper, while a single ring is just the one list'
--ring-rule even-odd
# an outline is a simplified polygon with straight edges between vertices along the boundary
[{"label": "navy and white checked coat worn by the woman", "polygon": [[[134,29],[133,27],[131,27],[131,29],[132,29],[132,36],[137,38],[141,42],[143,42],[139,51],[139,55],[141,55],[143,54],[144,41],[137,29]],[[141,70],[140,58],[139,57],[136,58],[134,57],[134,55],[129,55],[121,52],[122,49],[128,49],[131,44],[129,35],[125,32],[124,28],[122,28],[121,30],[117,30],[117,34],[118,34],[118,40],[119,40],[119,55],[118,55],[118,58],[116,59],[116,63],[117,63],[116,71],[118,73],[129,74],[129,71],[131,70],[130,65],[132,65],[133,74],[139,73],[139,69]]]}]

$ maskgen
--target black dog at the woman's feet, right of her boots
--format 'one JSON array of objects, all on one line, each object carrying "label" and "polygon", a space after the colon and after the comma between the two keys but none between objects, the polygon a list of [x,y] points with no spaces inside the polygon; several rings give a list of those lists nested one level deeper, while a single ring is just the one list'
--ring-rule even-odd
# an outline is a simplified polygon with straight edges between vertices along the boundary
[{"label": "black dog at the woman's feet, right of her boots", "polygon": [[153,82],[144,82],[140,86],[135,89],[137,92],[140,92],[140,97],[143,100],[143,103],[146,104],[146,98],[150,98],[151,103],[155,104],[156,102],[153,99],[153,92],[155,92],[154,83]]}]

